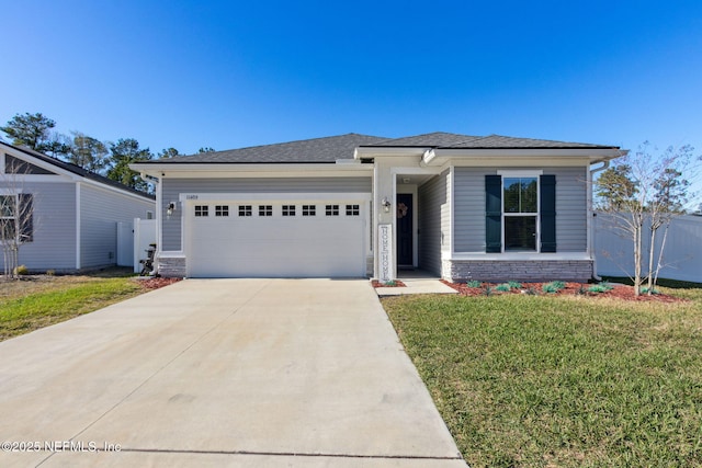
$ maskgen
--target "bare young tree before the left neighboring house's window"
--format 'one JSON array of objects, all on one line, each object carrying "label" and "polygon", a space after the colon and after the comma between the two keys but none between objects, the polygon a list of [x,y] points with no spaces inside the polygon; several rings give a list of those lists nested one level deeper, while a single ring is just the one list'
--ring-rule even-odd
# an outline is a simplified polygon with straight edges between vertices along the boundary
[{"label": "bare young tree before the left neighboring house's window", "polygon": [[34,195],[23,191],[23,174],[30,165],[5,155],[0,171],[0,243],[5,278],[18,277],[20,248],[34,240]]}]

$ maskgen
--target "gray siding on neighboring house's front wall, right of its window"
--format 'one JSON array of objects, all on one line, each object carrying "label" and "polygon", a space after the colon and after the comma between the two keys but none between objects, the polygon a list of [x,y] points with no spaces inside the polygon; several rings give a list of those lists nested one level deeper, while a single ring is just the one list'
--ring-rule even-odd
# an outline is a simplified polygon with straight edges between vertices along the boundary
[{"label": "gray siding on neighboring house's front wall, right of its window", "polygon": [[76,269],[76,184],[25,182],[34,196],[34,240],[20,248],[20,264],[33,271]]}]

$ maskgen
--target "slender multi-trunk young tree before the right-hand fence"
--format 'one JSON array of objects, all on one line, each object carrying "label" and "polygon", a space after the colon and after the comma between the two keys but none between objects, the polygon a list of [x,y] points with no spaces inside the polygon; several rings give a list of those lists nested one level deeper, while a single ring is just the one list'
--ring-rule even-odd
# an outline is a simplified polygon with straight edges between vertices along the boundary
[{"label": "slender multi-trunk young tree before the right-hand fence", "polygon": [[[633,242],[634,272],[630,278],[636,295],[646,283],[652,294],[664,266],[668,227],[684,213],[693,197],[683,172],[690,170],[693,148],[669,147],[660,155],[644,142],[635,153],[620,158],[595,182],[596,209],[607,214],[607,227]],[[665,227],[661,247],[656,255],[658,230]],[[647,251],[646,251],[647,249]],[[647,269],[644,264],[647,263]]]}]

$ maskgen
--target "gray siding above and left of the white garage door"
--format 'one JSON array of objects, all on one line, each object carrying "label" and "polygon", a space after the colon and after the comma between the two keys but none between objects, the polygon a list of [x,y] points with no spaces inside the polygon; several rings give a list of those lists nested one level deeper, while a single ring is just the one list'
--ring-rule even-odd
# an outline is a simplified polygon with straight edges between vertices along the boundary
[{"label": "gray siding above and left of the white garage door", "polygon": [[[182,209],[166,216],[181,193],[371,193],[371,178],[163,179],[161,206],[163,250],[182,250]],[[180,206],[180,205],[179,205]]]}]

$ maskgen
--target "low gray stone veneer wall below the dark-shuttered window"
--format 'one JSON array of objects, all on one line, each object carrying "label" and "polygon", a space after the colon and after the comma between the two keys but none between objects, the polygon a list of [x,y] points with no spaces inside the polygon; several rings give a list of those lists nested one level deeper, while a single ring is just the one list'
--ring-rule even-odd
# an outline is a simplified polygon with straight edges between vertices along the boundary
[{"label": "low gray stone veneer wall below the dark-shuttered window", "polygon": [[592,261],[444,260],[443,277],[451,282],[466,282],[471,279],[488,282],[587,282],[592,277]]}]

